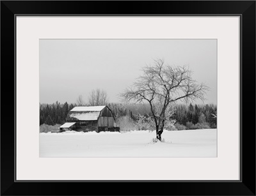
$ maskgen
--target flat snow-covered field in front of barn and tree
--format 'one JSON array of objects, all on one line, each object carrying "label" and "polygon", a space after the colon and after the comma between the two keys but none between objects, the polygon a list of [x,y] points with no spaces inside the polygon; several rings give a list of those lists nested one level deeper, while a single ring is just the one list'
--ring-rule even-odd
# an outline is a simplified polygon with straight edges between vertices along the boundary
[{"label": "flat snow-covered field in front of barn and tree", "polygon": [[217,130],[40,133],[40,157],[216,157]]}]

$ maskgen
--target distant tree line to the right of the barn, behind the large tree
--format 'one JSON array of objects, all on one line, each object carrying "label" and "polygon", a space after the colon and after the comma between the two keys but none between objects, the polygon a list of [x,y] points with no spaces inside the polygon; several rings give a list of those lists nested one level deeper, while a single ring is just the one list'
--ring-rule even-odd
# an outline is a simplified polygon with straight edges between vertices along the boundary
[{"label": "distant tree line to the right of the barn, behind the large tree", "polygon": [[[120,110],[120,109],[119,109]],[[195,130],[195,129],[207,129],[217,128],[217,106],[213,104],[206,105],[189,105],[176,104],[171,109],[172,116],[167,116],[169,122],[175,121],[174,128],[169,126],[168,130]],[[113,110],[115,112],[115,110]],[[141,126],[141,117],[147,121],[150,119],[150,106],[147,104],[136,104],[123,106],[121,111],[118,112],[117,122],[125,124],[129,128],[122,129],[129,130],[133,124],[134,130],[143,130],[145,127]],[[143,117],[144,116],[144,117]],[[125,122],[124,122],[125,121]],[[151,122],[148,122],[149,124]],[[154,130],[154,126],[151,128]]]}]

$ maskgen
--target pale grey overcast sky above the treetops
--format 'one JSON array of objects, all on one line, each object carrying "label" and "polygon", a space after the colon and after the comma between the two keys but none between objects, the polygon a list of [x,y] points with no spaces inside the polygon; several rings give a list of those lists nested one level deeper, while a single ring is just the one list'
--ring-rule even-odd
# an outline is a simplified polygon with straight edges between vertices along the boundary
[{"label": "pale grey overcast sky above the treetops", "polygon": [[205,103],[217,103],[217,40],[40,40],[40,103],[75,103],[79,94],[87,102],[97,88],[119,102],[157,58],[189,64],[193,79],[210,87]]}]

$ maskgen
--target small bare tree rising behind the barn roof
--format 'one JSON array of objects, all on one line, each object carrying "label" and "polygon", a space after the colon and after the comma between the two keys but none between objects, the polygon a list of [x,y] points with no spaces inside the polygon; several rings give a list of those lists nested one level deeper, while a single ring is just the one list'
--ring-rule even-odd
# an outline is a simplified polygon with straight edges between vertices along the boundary
[{"label": "small bare tree rising behind the barn roof", "polygon": [[88,96],[88,104],[91,106],[106,105],[108,103],[108,94],[106,91],[96,89]]}]

